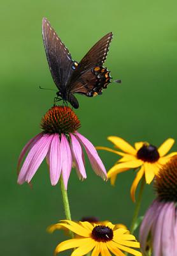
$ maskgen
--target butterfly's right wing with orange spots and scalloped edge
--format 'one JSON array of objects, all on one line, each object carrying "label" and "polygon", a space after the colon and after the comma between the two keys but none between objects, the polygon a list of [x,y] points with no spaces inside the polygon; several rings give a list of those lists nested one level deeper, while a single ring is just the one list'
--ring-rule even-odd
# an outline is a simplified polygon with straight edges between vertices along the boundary
[{"label": "butterfly's right wing with orange spots and scalloped edge", "polygon": [[101,94],[102,90],[111,83],[110,71],[103,67],[103,63],[112,37],[112,33],[103,36],[83,57],[67,85],[69,92],[92,97]]}]

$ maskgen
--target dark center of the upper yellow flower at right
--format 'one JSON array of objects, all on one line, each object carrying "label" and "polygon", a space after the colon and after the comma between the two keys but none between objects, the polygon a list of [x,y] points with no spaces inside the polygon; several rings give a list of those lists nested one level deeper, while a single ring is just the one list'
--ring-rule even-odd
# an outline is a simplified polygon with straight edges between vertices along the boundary
[{"label": "dark center of the upper yellow flower at right", "polygon": [[143,147],[139,148],[137,157],[144,162],[155,163],[159,160],[160,156],[157,147],[145,143]]}]

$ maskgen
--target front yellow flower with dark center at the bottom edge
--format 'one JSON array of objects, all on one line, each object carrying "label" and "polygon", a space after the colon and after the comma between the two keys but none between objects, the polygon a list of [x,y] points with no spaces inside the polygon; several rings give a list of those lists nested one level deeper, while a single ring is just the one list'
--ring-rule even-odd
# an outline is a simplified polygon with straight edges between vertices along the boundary
[{"label": "front yellow flower with dark center at the bottom edge", "polygon": [[82,256],[91,251],[92,256],[99,256],[100,253],[101,256],[111,256],[111,253],[124,256],[125,254],[122,251],[142,256],[140,252],[130,248],[140,247],[136,238],[124,228],[115,228],[115,225],[111,222],[106,223],[106,225],[97,225],[88,221],[77,223],[64,220],[60,221],[59,224],[53,225],[53,230],[57,229],[58,225],[71,230],[78,237],[58,244],[55,248],[55,255],[59,252],[76,248],[71,256]]}]

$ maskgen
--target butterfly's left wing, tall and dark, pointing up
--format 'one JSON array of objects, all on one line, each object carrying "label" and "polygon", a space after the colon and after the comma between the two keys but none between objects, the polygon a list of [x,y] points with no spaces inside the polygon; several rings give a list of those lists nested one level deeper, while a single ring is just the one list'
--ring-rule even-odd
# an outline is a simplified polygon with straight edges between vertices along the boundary
[{"label": "butterfly's left wing, tall and dark, pointing up", "polygon": [[69,77],[76,69],[77,63],[72,60],[70,52],[46,18],[43,18],[42,33],[46,58],[53,81],[57,88],[63,91]]}]

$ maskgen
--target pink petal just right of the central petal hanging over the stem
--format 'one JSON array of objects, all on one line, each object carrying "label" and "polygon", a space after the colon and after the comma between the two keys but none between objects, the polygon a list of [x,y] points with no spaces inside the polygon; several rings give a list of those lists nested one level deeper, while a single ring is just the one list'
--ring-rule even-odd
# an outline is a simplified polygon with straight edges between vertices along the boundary
[{"label": "pink petal just right of the central petal hanging over the stem", "polygon": [[81,149],[81,145],[73,134],[70,134],[70,137],[76,169],[78,173],[80,173],[79,177],[81,177],[82,179],[86,179],[87,175],[85,173],[85,166],[83,163],[83,151]]}]

